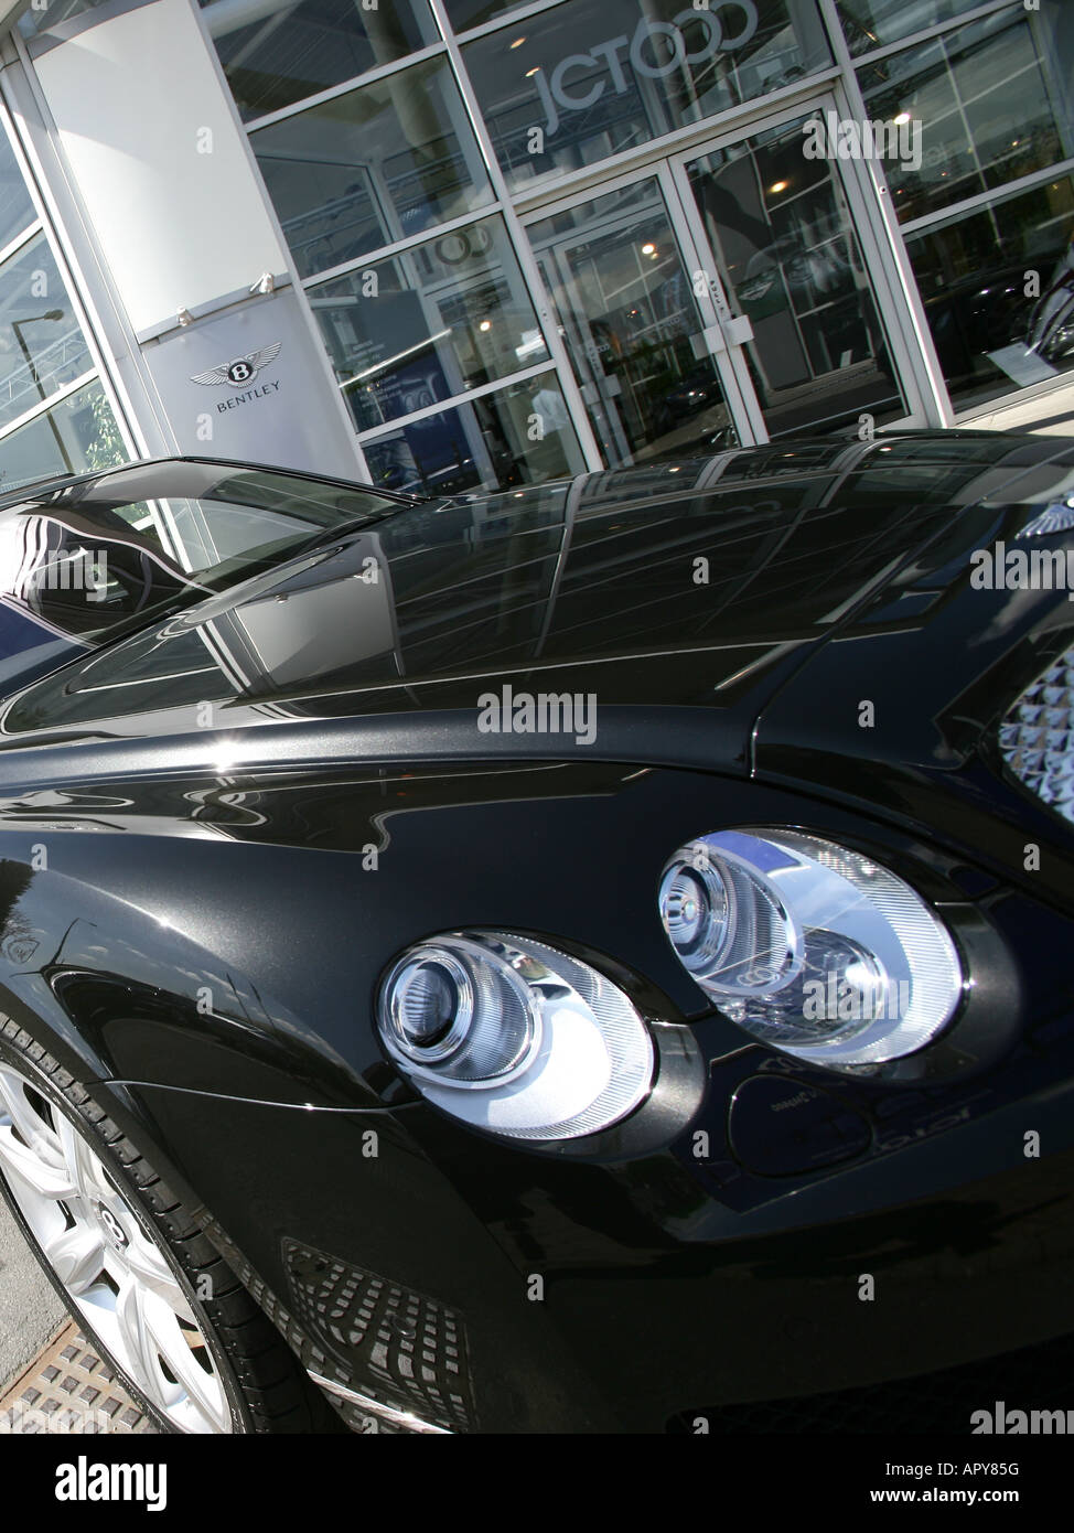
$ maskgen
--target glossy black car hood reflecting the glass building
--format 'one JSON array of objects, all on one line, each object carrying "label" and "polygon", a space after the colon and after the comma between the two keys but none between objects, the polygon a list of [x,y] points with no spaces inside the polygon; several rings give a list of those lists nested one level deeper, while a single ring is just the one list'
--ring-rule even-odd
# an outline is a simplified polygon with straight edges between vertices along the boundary
[{"label": "glossy black car hood reflecting the glass building", "polygon": [[[268,750],[288,724],[270,751],[288,759],[331,753],[342,725],[351,754],[748,771],[766,705],[798,707],[863,622],[890,627],[895,665],[918,633],[948,694],[976,679],[899,604],[922,572],[964,581],[982,529],[1016,535],[1068,452],[958,432],[806,443],[406,509],[35,682],[5,705],[3,745],[256,724]],[[541,698],[578,710],[542,716]]]}]

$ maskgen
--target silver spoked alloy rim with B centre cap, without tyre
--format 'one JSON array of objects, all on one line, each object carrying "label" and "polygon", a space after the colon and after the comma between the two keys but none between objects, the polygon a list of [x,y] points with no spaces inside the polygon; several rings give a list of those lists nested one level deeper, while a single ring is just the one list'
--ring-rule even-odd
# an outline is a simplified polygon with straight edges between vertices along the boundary
[{"label": "silver spoked alloy rim with B centre cap, without tyre", "polygon": [[0,1171],[72,1308],[176,1432],[230,1432],[213,1352],[172,1265],[86,1134],[0,1062]]}]

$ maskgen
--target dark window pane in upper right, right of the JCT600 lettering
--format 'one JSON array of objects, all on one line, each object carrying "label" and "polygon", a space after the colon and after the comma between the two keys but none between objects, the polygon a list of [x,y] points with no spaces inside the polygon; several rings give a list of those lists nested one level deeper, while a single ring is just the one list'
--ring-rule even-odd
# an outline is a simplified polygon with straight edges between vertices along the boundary
[{"label": "dark window pane in upper right, right of the JCT600 lettering", "polygon": [[[1074,57],[1074,26],[1065,57]],[[1031,175],[1074,153],[1069,67],[1040,17],[1000,11],[860,71],[873,121],[921,124],[919,164],[886,161],[898,216],[941,207]]]}]

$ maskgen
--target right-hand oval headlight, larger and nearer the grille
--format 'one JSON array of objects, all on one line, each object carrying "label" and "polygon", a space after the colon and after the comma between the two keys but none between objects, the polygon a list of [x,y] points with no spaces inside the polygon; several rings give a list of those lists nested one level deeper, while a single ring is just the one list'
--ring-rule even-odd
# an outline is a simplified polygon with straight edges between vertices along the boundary
[{"label": "right-hand oval headlight, larger and nearer the grille", "polygon": [[947,927],[869,857],[798,831],[719,831],[663,869],[680,961],[746,1032],[818,1064],[881,1064],[939,1033],[962,996]]}]

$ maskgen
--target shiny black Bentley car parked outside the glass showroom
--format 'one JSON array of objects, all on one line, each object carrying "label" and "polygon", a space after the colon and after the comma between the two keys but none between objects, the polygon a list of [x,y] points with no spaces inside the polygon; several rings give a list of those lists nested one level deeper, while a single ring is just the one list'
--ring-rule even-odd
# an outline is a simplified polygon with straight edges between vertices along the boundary
[{"label": "shiny black Bentley car parked outside the glass showroom", "polygon": [[1071,1329],[1074,445],[142,463],[0,572],[3,1190],[158,1426],[717,1430]]}]

